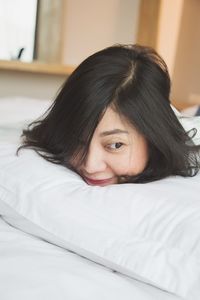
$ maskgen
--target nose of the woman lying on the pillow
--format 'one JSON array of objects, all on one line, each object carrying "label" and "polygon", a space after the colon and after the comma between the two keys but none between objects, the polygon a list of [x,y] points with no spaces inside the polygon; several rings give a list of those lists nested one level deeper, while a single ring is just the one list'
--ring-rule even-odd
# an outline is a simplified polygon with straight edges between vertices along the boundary
[{"label": "nose of the woman lying on the pillow", "polygon": [[103,172],[106,169],[106,161],[103,151],[98,147],[90,145],[88,154],[83,164],[83,169],[87,174]]}]

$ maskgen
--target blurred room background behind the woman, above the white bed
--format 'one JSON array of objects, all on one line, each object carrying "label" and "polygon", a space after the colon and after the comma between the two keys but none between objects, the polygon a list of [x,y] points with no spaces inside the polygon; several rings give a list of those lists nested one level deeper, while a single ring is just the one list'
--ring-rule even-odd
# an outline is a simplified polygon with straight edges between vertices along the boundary
[{"label": "blurred room background behind the woman, above the white bed", "polygon": [[199,0],[0,0],[0,97],[53,99],[87,56],[154,47],[179,109],[200,104]]}]

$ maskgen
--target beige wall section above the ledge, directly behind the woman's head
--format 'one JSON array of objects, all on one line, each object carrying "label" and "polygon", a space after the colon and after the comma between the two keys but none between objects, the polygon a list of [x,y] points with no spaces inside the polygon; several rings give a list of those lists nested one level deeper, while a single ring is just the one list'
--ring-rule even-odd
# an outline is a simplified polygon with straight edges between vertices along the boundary
[{"label": "beige wall section above the ledge, directly behind the woman's head", "polygon": [[140,0],[67,0],[63,61],[77,65],[115,43],[136,41]]}]

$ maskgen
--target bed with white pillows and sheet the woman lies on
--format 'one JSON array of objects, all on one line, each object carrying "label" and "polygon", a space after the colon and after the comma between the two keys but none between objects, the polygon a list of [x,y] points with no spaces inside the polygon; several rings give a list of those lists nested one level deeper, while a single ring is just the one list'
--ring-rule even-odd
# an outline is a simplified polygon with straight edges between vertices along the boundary
[{"label": "bed with white pillows and sheet the woman lies on", "polygon": [[16,161],[50,104],[0,99],[1,299],[200,299],[200,176],[129,185],[122,208],[120,186],[88,187],[29,150]]}]

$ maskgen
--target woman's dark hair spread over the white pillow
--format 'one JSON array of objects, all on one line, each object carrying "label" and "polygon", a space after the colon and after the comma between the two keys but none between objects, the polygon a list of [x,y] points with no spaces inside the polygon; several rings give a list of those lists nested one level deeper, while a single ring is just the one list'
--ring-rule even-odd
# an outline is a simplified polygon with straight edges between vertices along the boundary
[{"label": "woman's dark hair spread over the white pillow", "polygon": [[[199,168],[195,146],[170,106],[170,77],[163,59],[149,47],[116,45],[84,60],[61,87],[46,115],[23,131],[19,148],[73,169],[87,156],[93,133],[109,106],[147,140],[145,170],[127,182],[169,175],[193,176]],[[123,175],[123,174],[122,174]]]}]

